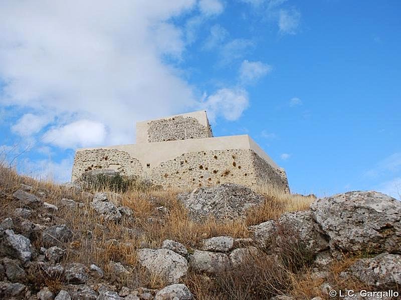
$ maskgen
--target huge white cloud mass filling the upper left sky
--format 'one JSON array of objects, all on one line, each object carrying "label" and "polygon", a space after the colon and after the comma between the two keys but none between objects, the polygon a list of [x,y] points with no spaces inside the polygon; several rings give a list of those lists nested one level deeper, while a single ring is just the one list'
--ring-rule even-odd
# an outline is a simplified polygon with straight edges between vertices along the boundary
[{"label": "huge white cloud mass filling the upper left sky", "polygon": [[182,33],[168,20],[194,6],[194,0],[0,1],[6,82],[0,105],[101,122],[110,128],[107,144],[132,142],[135,120],[197,105],[193,87],[161,58],[182,52]]}]

